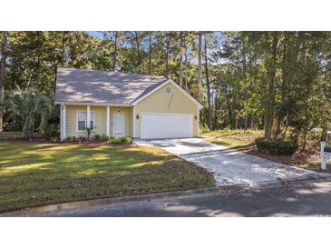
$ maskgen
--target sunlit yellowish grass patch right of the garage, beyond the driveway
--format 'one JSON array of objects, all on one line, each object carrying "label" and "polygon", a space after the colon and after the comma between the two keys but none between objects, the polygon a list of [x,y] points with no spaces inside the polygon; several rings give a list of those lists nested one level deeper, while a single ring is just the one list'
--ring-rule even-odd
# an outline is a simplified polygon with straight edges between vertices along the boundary
[{"label": "sunlit yellowish grass patch right of the garage, beyond the driveway", "polygon": [[218,130],[204,133],[206,140],[238,150],[247,150],[255,144],[255,139],[263,135],[260,130]]}]

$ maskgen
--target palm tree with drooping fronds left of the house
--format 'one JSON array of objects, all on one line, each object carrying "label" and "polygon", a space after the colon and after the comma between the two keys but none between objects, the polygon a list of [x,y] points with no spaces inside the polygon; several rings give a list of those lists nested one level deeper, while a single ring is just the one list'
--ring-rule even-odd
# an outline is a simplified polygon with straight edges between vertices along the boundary
[{"label": "palm tree with drooping fronds left of the house", "polygon": [[47,126],[47,117],[50,114],[52,105],[47,96],[37,95],[34,88],[21,90],[19,87],[10,93],[7,100],[7,110],[13,118],[20,118],[23,121],[23,132],[26,137],[32,137],[36,115],[40,115],[40,129]]}]

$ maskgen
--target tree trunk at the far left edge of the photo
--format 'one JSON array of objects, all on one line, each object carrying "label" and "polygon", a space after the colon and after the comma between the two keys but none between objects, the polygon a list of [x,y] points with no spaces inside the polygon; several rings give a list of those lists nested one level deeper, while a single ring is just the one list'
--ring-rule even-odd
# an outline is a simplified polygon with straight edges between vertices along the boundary
[{"label": "tree trunk at the far left edge of the photo", "polygon": [[3,41],[1,46],[1,65],[0,65],[0,132],[3,131],[3,120],[5,112],[5,59],[7,55],[7,32],[3,31]]}]

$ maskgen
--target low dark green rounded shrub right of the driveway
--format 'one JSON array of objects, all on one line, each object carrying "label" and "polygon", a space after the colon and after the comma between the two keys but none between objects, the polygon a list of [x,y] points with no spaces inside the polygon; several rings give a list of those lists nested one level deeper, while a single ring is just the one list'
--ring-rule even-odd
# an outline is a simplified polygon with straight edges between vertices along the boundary
[{"label": "low dark green rounded shrub right of the driveway", "polygon": [[277,154],[277,155],[290,155],[297,151],[297,144],[291,141],[276,141],[266,138],[258,138],[255,140],[258,147],[258,152]]}]

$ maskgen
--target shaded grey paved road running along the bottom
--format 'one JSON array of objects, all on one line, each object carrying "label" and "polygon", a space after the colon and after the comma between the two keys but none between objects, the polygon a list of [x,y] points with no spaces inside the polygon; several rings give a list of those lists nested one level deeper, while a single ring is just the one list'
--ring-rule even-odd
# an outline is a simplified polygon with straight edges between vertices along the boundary
[{"label": "shaded grey paved road running along the bottom", "polygon": [[305,180],[260,188],[222,188],[190,194],[106,204],[32,216],[329,216],[331,180]]}]

